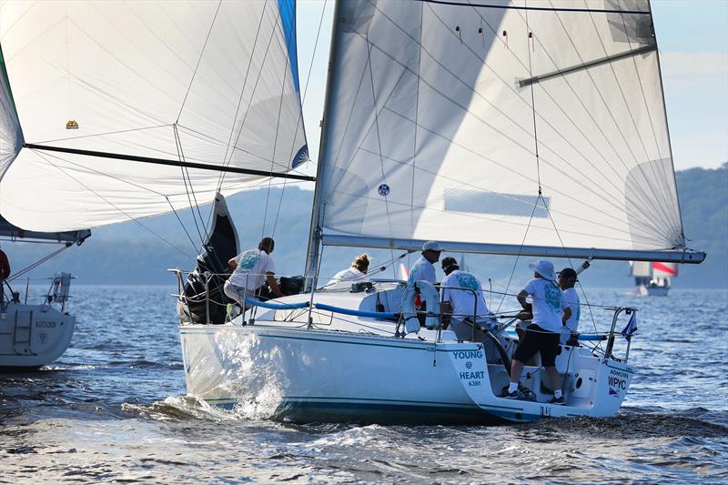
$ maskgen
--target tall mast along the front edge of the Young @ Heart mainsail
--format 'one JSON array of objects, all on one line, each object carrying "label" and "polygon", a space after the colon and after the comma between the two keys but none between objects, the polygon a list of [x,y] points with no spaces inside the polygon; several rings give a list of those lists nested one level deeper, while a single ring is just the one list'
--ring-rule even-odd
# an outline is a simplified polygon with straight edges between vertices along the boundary
[{"label": "tall mast along the front edge of the Young @ Heart mainsail", "polygon": [[[321,136],[319,138],[319,162],[316,168],[316,180],[321,180],[323,174],[324,160],[326,159],[326,138],[329,126],[329,107],[332,97],[332,82],[336,67],[333,65],[334,53],[337,47],[339,33],[339,0],[334,4],[334,17],[331,28],[331,45],[329,47],[329,73],[326,78],[326,97],[324,99],[324,114],[321,120]],[[308,250],[306,252],[306,291],[313,286],[313,279],[308,278],[316,274],[319,268],[319,248],[321,246],[321,216],[323,207],[320,201],[322,183],[317,183],[313,193],[313,206],[311,207],[311,226],[308,230]]]}]

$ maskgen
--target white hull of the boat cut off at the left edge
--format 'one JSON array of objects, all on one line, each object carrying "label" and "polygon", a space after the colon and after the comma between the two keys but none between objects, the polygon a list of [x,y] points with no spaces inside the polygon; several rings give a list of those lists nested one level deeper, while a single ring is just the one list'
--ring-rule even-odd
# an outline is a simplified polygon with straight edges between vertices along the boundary
[{"label": "white hull of the boat cut off at the left edge", "polygon": [[0,368],[38,368],[66,351],[75,318],[47,305],[10,302],[0,311]]}]

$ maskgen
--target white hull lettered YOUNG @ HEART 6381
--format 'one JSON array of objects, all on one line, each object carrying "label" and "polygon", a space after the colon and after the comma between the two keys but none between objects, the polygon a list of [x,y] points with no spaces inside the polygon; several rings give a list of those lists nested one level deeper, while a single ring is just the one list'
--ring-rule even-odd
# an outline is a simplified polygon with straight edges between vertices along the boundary
[{"label": "white hull lettered YOUNG @ HEART 6381", "polygon": [[[248,326],[182,325],[187,392],[302,422],[491,423],[612,416],[634,372],[589,349],[563,347],[557,368],[566,377],[566,405],[545,403],[552,391],[536,367],[527,367],[524,376],[532,375],[521,382],[541,402],[502,399],[496,396],[510,379],[491,345],[459,342],[448,331],[438,342],[437,332],[426,329],[420,338],[394,338],[394,324],[376,320],[367,322],[370,333],[344,329],[358,323],[352,320],[333,318],[331,329],[272,318]],[[513,339],[504,343],[510,354]]]}]

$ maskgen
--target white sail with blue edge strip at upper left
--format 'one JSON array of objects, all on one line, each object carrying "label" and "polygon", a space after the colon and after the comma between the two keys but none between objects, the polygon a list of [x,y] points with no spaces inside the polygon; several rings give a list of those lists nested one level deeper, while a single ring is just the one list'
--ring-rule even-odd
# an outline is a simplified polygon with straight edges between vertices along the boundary
[{"label": "white sail with blue edge strip at upper left", "polygon": [[0,45],[0,213],[21,227],[152,216],[265,178],[130,157],[266,173],[308,158],[293,0],[9,1]]}]

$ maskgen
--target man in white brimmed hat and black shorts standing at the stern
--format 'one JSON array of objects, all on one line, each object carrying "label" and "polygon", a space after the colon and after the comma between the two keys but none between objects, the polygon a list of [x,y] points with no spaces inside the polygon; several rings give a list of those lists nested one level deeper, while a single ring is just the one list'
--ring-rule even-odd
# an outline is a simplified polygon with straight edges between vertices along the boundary
[{"label": "man in white brimmed hat and black shorts standing at the stern", "polygon": [[556,283],[556,273],[551,261],[541,260],[531,263],[533,279],[518,294],[518,302],[526,308],[526,298],[531,297],[533,318],[526,328],[526,335],[519,342],[518,349],[513,352],[511,363],[511,385],[502,395],[504,398],[517,399],[518,385],[523,372],[523,363],[536,352],[541,352],[541,365],[555,387],[552,404],[563,404],[561,396],[561,377],[556,370],[556,351],[561,338],[561,288]]}]

